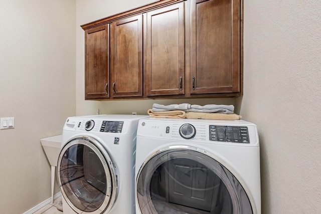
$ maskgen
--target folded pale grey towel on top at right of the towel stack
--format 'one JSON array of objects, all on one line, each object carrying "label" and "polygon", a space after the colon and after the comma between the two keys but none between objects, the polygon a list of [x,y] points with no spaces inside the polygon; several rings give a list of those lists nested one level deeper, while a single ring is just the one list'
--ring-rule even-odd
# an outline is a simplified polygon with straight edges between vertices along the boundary
[{"label": "folded pale grey towel on top at right of the towel stack", "polygon": [[205,106],[200,105],[191,105],[189,109],[191,112],[205,112],[205,113],[223,113],[223,114],[233,114],[234,106],[233,105],[216,105],[209,104]]}]

